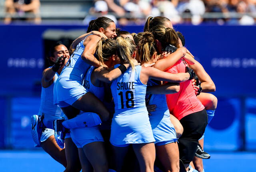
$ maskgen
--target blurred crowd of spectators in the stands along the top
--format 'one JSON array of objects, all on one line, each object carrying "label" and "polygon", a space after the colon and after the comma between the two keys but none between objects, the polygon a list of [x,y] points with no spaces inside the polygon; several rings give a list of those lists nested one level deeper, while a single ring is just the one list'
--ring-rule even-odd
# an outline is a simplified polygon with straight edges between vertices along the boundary
[{"label": "blurred crowd of spectators in the stands along the top", "polygon": [[[6,0],[5,23],[29,13],[40,23],[39,0]],[[111,18],[119,25],[143,25],[148,16],[165,16],[174,24],[217,23],[219,25],[254,25],[256,0],[96,0],[83,23],[99,16]]]}]

